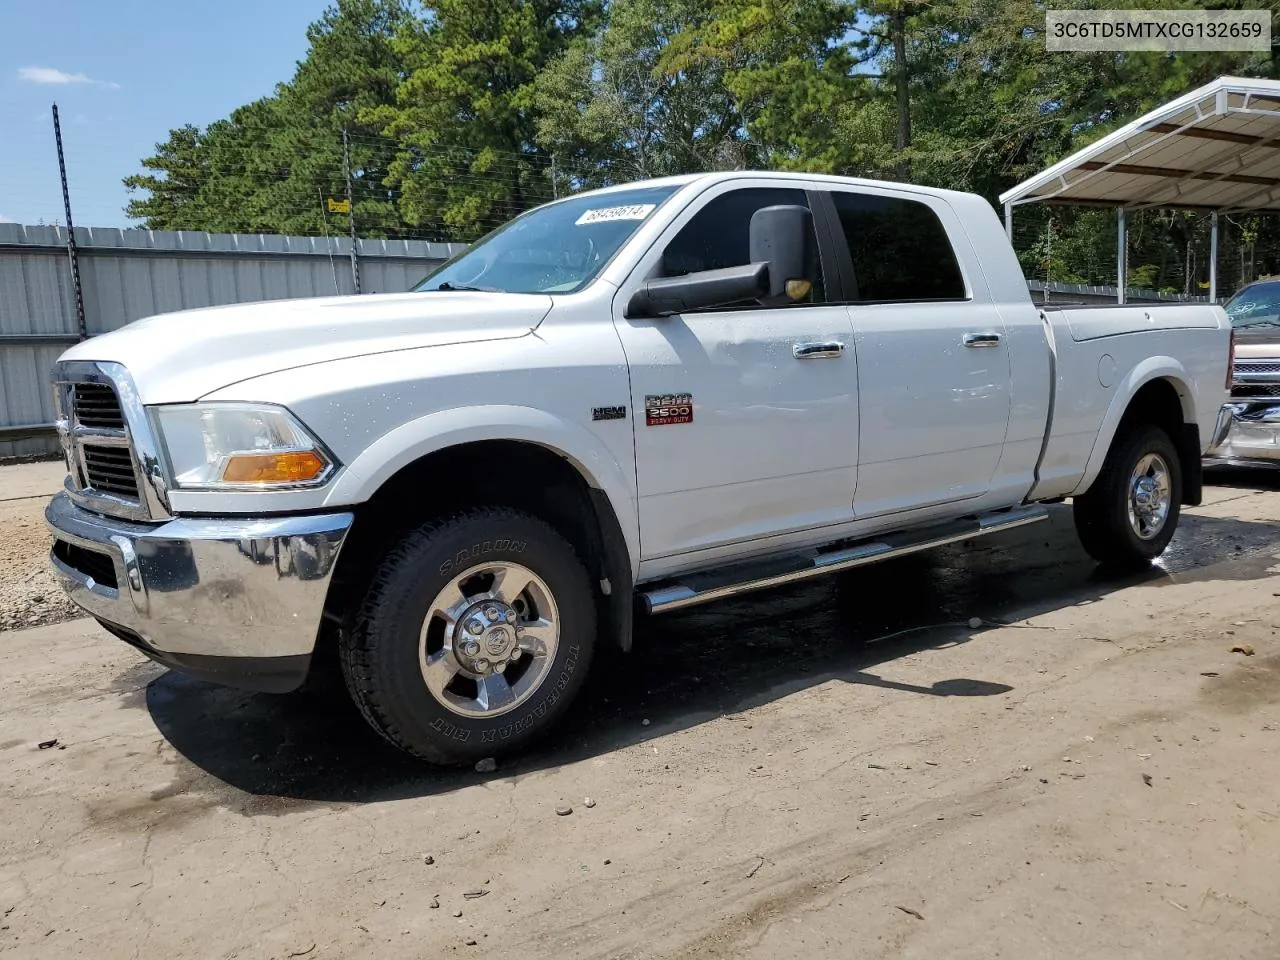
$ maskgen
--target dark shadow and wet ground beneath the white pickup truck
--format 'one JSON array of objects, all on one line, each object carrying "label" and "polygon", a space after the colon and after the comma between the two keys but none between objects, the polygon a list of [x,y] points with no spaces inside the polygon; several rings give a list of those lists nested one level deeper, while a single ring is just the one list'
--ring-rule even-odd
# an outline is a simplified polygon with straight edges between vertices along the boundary
[{"label": "dark shadow and wet ground beneath the white pickup truck", "polygon": [[[902,695],[998,696],[1011,689],[998,677],[950,677],[940,668],[943,676],[916,686],[884,680],[878,667],[1128,586],[1262,579],[1276,563],[1277,540],[1270,524],[1188,516],[1158,566],[1115,576],[1084,554],[1070,508],[1059,507],[1048,522],[1004,536],[641,620],[635,650],[600,658],[548,741],[502,760],[497,776],[596,756],[831,681]],[[974,617],[983,626],[970,628]],[[255,797],[372,803],[484,780],[404,756],[342,696],[247,694],[166,672],[147,686],[145,703],[187,760]]]}]

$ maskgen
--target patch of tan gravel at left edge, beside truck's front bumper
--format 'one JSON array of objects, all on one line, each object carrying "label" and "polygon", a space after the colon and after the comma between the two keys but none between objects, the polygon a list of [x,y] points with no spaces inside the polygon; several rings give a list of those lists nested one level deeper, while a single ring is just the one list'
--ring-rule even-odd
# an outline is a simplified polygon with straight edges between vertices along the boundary
[{"label": "patch of tan gravel at left edge, beside truck's front bumper", "polygon": [[49,568],[45,504],[61,463],[0,466],[0,631],[81,616]]}]

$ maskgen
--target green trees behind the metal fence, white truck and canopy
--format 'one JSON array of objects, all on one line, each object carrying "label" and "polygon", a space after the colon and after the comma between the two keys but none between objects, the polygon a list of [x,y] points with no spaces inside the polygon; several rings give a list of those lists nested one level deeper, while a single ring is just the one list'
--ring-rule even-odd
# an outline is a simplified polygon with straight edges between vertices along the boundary
[{"label": "green trees behind the metal fence, white truck and canopy", "polygon": [[[1219,74],[1276,76],[1257,54],[1047,54],[1043,27],[1038,0],[337,0],[288,82],[156,146],[125,180],[128,214],[344,233],[321,202],[344,195],[343,131],[362,236],[474,239],[554,195],[726,168],[995,201]],[[1028,276],[1110,282],[1112,214],[1028,218]],[[1224,256],[1242,278],[1265,269],[1280,228],[1233,223]],[[1187,214],[1134,218],[1132,282],[1190,291],[1204,230]]]}]

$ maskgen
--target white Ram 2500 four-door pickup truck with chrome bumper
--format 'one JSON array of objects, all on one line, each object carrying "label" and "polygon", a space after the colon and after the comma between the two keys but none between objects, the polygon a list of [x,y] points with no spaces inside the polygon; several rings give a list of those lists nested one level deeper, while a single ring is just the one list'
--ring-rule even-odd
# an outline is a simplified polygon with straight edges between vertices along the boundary
[{"label": "white Ram 2500 four-door pickup truck with chrome bumper", "polygon": [[1039,310],[991,206],[716,173],[526,212],[402,294],[215,307],[54,372],[52,564],[106,630],[268,691],[335,652],[466,763],[657,614],[1074,498],[1144,563],[1224,426],[1217,306]]}]

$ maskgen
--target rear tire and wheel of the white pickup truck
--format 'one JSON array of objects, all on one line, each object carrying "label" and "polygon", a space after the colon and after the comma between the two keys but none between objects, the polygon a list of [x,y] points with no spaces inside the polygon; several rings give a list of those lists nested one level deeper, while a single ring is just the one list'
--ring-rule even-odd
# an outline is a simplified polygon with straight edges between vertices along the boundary
[{"label": "rear tire and wheel of the white pickup truck", "polygon": [[[1147,467],[1143,475],[1160,490],[1158,498],[1165,504],[1162,518],[1149,499],[1143,502],[1142,494],[1152,493],[1151,484],[1135,493],[1139,465]],[[1075,498],[1075,531],[1085,552],[1100,563],[1143,567],[1169,547],[1178,529],[1181,499],[1183,472],[1174,442],[1158,426],[1135,425],[1116,436],[1093,486]]]}]

